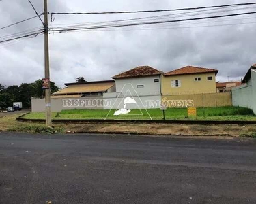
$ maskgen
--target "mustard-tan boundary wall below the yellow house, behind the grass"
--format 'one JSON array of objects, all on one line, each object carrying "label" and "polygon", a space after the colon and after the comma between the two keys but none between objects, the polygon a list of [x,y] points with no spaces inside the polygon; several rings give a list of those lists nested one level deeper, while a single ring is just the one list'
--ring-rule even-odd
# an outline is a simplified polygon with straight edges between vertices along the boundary
[{"label": "mustard-tan boundary wall below the yellow house, behind the grass", "polygon": [[[231,93],[214,93],[199,95],[162,96],[162,101],[190,101],[194,107],[222,107],[232,105]],[[184,103],[185,104],[185,103]],[[168,103],[168,107],[170,104]]]}]

